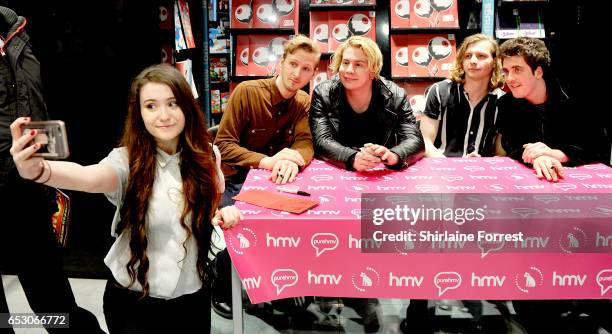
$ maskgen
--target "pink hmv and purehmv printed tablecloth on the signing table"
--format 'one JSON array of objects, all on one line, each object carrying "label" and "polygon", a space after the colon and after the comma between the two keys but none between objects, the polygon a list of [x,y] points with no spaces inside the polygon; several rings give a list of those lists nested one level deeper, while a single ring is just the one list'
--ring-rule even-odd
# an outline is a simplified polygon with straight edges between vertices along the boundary
[{"label": "pink hmv and purehmv printed tablecloth on the signing table", "polygon": [[[293,215],[238,202],[245,220],[226,231],[225,240],[253,303],[306,295],[612,298],[612,226],[601,224],[612,224],[612,169],[594,164],[565,172],[564,180],[549,183],[511,159],[466,158],[423,159],[400,172],[359,174],[315,160],[294,184],[318,199],[319,206]],[[276,192],[268,175],[252,170],[243,190]],[[540,205],[537,210],[559,215],[559,220],[581,209],[559,209],[551,198],[583,203],[593,197],[597,205],[586,210],[599,224],[549,226],[543,230],[547,235],[527,233],[524,241],[505,245],[475,244],[473,251],[454,252],[448,248],[460,244],[444,243],[433,252],[368,252],[378,244],[361,239],[362,193],[489,194],[509,202],[540,194],[542,200],[534,202]],[[515,213],[525,218],[526,212]],[[516,251],[521,247],[531,249]]]}]

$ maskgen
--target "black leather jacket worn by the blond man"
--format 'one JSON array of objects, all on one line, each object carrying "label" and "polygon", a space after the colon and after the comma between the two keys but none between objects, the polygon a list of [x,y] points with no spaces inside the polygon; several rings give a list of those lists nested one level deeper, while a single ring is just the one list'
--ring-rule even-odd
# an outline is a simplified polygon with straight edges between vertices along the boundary
[{"label": "black leather jacket worn by the blond man", "polygon": [[[382,77],[372,85],[372,95],[378,94],[378,101],[383,101],[378,110],[381,111],[381,123],[385,125],[383,129],[372,131],[384,131],[383,142],[378,144],[389,148],[401,161],[389,168],[413,164],[423,156],[425,145],[404,90]],[[310,130],[316,155],[336,166],[353,169],[352,161],[357,151],[338,141],[343,95],[344,88],[337,75],[315,88],[310,105]]]}]

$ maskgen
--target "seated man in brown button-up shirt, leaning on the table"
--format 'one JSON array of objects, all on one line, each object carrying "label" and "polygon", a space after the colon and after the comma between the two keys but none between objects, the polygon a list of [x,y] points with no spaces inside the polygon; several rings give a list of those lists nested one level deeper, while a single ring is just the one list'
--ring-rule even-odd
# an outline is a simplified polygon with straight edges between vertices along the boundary
[{"label": "seated man in brown button-up shirt, leaning on the table", "polygon": [[285,46],[280,74],[239,84],[230,96],[215,138],[226,185],[221,206],[233,204],[250,168],[271,170],[276,183],[292,182],[313,156],[308,127],[310,82],[321,52],[305,36]]}]

